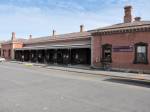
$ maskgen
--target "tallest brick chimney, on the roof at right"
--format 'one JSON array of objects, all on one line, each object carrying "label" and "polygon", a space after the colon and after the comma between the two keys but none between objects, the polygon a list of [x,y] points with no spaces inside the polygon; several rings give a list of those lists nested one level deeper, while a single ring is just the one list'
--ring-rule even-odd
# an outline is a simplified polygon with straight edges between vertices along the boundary
[{"label": "tallest brick chimney, on the roof at right", "polygon": [[131,23],[132,22],[132,6],[125,6],[124,7],[124,23]]}]

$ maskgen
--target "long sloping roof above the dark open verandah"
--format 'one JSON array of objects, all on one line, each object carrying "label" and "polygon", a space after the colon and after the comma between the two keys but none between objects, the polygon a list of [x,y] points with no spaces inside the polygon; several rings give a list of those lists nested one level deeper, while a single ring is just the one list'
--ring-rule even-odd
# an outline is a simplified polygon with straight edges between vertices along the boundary
[{"label": "long sloping roof above the dark open verandah", "polygon": [[55,35],[55,36],[46,36],[46,37],[28,39],[24,42],[24,44],[89,38],[89,35],[90,35],[89,32],[75,32],[75,33],[68,33],[68,34]]}]

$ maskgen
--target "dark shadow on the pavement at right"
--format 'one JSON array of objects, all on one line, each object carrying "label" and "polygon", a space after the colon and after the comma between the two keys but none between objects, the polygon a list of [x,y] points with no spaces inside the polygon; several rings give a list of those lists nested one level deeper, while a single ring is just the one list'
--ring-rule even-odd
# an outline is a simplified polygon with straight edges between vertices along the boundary
[{"label": "dark shadow on the pavement at right", "polygon": [[146,81],[137,81],[137,80],[120,79],[120,78],[111,78],[111,79],[106,79],[104,81],[150,88],[150,82],[146,82]]}]

